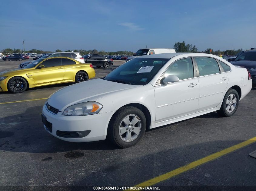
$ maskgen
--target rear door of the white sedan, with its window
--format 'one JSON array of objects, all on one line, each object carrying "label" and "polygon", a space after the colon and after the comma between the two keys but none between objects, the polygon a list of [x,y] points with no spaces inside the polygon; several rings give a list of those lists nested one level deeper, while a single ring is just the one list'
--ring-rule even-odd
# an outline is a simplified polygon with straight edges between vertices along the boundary
[{"label": "rear door of the white sedan, with its window", "polygon": [[194,57],[194,60],[197,63],[199,80],[198,111],[217,107],[225,94],[228,75],[214,58]]}]

